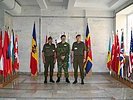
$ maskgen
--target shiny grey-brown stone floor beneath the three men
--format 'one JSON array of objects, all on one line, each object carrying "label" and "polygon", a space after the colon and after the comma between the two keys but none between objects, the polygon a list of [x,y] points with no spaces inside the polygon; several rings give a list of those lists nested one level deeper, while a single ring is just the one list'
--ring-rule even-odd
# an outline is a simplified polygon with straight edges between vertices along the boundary
[{"label": "shiny grey-brown stone floor beneath the three men", "polygon": [[[56,79],[56,77],[54,77]],[[94,74],[85,78],[85,84],[43,84],[43,75],[33,79],[20,75],[6,87],[0,89],[0,100],[133,100],[133,89],[114,80],[107,74]]]}]

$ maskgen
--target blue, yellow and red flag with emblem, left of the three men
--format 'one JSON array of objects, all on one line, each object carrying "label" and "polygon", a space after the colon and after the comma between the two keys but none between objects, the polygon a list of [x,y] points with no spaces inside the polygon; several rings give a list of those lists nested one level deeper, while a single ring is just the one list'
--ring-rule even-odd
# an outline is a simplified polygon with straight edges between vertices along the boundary
[{"label": "blue, yellow and red flag with emblem, left of the three men", "polygon": [[37,52],[37,41],[36,41],[36,28],[34,23],[33,33],[32,33],[31,59],[30,59],[30,69],[32,76],[37,75],[37,65],[38,65],[38,52]]}]

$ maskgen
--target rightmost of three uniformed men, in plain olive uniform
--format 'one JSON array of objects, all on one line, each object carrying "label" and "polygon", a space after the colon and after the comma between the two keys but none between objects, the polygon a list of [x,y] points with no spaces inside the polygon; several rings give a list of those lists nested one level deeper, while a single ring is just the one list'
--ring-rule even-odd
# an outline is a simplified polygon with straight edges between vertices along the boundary
[{"label": "rightmost of three uniformed men, in plain olive uniform", "polygon": [[84,62],[86,61],[86,46],[85,43],[81,41],[81,35],[76,36],[76,42],[72,45],[72,62],[74,67],[74,78],[73,84],[77,83],[78,78],[78,66],[80,69],[81,84],[84,84]]}]

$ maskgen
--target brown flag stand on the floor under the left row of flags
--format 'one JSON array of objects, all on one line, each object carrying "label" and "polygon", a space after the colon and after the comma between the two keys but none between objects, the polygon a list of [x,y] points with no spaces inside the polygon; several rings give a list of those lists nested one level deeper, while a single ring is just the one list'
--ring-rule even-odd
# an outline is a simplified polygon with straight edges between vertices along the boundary
[{"label": "brown flag stand on the floor under the left row of flags", "polygon": [[11,83],[14,79],[18,78],[19,74],[18,72],[16,72],[14,75],[11,75],[10,77],[8,77],[9,79],[3,79],[4,81],[2,81],[0,83],[0,88],[5,87],[6,85],[8,85],[9,83]]}]

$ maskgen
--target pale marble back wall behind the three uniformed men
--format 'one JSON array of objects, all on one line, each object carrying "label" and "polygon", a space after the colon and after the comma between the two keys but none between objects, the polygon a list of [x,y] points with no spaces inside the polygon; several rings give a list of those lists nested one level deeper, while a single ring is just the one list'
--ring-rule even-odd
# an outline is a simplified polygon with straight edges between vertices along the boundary
[{"label": "pale marble back wall behind the three uniformed men", "polygon": [[[25,8],[26,9],[26,8]],[[37,10],[37,9],[36,9]],[[24,12],[22,16],[13,17],[13,27],[19,35],[19,57],[20,72],[30,72],[30,49],[31,35],[34,21],[37,29],[37,42],[39,43],[39,29],[41,34],[41,49],[45,42],[45,36],[52,35],[54,39],[60,41],[60,35],[65,32],[67,41],[75,41],[77,33],[82,34],[82,40],[85,38],[86,23],[88,22],[91,32],[92,50],[93,50],[93,72],[107,72],[106,57],[108,49],[109,35],[113,30],[112,12],[84,11],[75,10],[42,10],[41,17],[32,13]],[[52,13],[53,12],[53,13]],[[24,14],[26,13],[26,16]],[[87,21],[85,16],[87,16]],[[40,19],[40,21],[39,21]],[[39,27],[39,24],[41,27]],[[41,50],[40,50],[41,52]],[[39,58],[41,61],[41,58]],[[70,64],[71,66],[71,64]],[[41,71],[43,71],[41,62]],[[55,71],[57,68],[55,68]],[[72,68],[69,69],[72,71]]]}]

